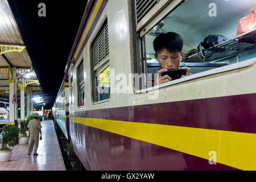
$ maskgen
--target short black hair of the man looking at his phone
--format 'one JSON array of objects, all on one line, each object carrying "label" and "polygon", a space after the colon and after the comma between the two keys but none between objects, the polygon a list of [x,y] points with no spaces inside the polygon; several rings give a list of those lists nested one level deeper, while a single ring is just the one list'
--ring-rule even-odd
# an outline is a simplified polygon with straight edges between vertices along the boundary
[{"label": "short black hair of the man looking at his phone", "polygon": [[163,48],[166,48],[171,53],[181,52],[183,39],[175,32],[163,32],[155,38],[153,46],[156,54],[161,52]]}]

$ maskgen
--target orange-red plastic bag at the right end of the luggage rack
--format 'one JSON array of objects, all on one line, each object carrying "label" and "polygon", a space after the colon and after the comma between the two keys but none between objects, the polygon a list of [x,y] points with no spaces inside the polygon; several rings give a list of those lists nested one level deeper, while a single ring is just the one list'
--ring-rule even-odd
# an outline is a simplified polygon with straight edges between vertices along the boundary
[{"label": "orange-red plastic bag at the right end of the luggage rack", "polygon": [[247,15],[239,20],[237,27],[237,36],[245,34],[256,28],[256,11],[251,10],[251,15]]}]

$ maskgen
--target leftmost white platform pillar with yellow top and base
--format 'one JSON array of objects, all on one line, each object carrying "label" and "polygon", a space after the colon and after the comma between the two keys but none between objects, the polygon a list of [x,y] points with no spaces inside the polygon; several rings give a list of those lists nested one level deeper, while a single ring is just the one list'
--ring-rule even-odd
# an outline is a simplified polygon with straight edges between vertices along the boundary
[{"label": "leftmost white platform pillar with yellow top and base", "polygon": [[[14,92],[14,85],[15,85],[15,80],[8,80],[9,82],[9,124],[14,125],[14,115],[15,115],[15,102],[16,100],[16,95]],[[13,100],[15,98],[15,101]]]}]

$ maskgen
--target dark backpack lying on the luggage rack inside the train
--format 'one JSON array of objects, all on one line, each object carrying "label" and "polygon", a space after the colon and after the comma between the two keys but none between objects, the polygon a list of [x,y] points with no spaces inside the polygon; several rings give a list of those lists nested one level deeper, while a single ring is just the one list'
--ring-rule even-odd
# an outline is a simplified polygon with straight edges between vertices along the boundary
[{"label": "dark backpack lying on the luggage rack inside the train", "polygon": [[213,54],[213,50],[211,50],[212,52],[210,53],[210,55],[205,56],[205,53],[204,53],[205,50],[202,49],[202,46],[204,47],[204,49],[209,49],[209,48],[213,47],[214,45],[225,42],[226,40],[228,40],[228,38],[226,38],[223,35],[208,35],[208,36],[206,36],[204,38],[204,42],[201,42],[199,44],[199,46],[197,47],[198,51],[200,52],[200,55],[202,56],[201,57],[199,55],[199,58],[201,59],[201,61],[209,59],[210,56],[212,56],[212,54]]}]

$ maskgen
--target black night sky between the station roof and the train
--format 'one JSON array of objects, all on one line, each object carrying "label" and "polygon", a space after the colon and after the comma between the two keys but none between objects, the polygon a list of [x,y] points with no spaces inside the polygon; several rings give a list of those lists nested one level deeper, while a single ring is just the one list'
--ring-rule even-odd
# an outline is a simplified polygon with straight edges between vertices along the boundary
[{"label": "black night sky between the station roof and the train", "polygon": [[[86,1],[8,2],[44,93],[56,97]],[[46,17],[38,16],[39,3],[46,4]],[[55,97],[46,107],[52,107]]]}]

